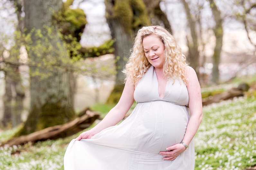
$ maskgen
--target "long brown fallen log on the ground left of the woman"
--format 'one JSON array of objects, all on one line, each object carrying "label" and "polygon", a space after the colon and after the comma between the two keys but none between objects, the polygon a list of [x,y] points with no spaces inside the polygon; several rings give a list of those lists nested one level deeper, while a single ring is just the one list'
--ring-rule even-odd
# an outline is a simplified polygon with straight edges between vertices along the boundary
[{"label": "long brown fallen log on the ground left of the woman", "polygon": [[100,115],[97,112],[86,110],[86,113],[83,116],[78,117],[73,121],[63,125],[47,127],[32,134],[12,138],[0,146],[4,146],[6,144],[9,146],[23,145],[26,142],[35,143],[37,141],[45,141],[47,139],[54,140],[68,137],[89,127],[97,118],[99,118],[99,116]]}]

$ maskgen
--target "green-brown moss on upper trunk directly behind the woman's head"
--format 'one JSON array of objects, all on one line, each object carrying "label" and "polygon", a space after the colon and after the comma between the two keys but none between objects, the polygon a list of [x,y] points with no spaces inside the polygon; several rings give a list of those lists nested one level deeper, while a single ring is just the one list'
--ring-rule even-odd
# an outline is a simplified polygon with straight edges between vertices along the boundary
[{"label": "green-brown moss on upper trunk directly behind the woman's head", "polygon": [[128,33],[131,33],[132,29],[137,31],[143,25],[150,24],[142,0],[115,0],[110,19],[117,20]]}]

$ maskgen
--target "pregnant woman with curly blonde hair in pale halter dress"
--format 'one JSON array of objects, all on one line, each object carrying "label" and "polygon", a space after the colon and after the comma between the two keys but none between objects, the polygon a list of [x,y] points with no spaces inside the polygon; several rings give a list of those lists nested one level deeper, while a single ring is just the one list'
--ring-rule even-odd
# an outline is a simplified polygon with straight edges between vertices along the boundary
[{"label": "pregnant woman with curly blonde hair in pale halter dress", "polygon": [[[196,72],[185,61],[167,30],[142,27],[123,70],[120,101],[69,143],[65,170],[193,170],[202,99]],[[134,100],[131,115],[115,126]]]}]

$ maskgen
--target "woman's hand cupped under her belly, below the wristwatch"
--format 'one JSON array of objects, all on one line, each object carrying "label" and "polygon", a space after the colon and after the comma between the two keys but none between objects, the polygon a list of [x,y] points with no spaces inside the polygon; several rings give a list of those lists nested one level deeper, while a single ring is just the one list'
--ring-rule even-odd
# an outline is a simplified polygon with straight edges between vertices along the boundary
[{"label": "woman's hand cupped under her belly, below the wristwatch", "polygon": [[179,154],[181,154],[186,150],[186,147],[181,143],[177,143],[173,146],[169,146],[168,148],[166,148],[166,150],[169,150],[169,151],[166,151],[166,152],[161,151],[159,153],[160,155],[165,157],[163,158],[163,160],[174,160],[175,158],[177,158]]}]

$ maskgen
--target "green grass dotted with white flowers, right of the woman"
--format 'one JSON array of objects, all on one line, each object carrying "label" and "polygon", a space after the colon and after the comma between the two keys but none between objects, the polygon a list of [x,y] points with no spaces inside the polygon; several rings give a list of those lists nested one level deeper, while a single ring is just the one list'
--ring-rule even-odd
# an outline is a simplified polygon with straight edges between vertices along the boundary
[{"label": "green grass dotted with white flowers, right of the woman", "polygon": [[256,165],[256,100],[206,106],[195,136],[195,170],[238,170]]}]

